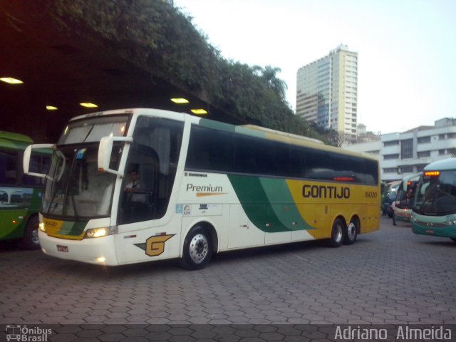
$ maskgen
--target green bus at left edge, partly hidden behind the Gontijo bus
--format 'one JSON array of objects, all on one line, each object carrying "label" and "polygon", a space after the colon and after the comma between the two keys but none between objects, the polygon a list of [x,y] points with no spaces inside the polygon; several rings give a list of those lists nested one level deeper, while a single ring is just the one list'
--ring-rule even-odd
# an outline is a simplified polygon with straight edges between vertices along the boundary
[{"label": "green bus at left edge, partly hidden behind the Gontijo bus", "polygon": [[[24,150],[33,140],[26,135],[0,131],[0,239],[21,239],[26,249],[38,249],[38,211],[43,182],[24,175]],[[33,170],[46,171],[50,154],[34,154]]]}]

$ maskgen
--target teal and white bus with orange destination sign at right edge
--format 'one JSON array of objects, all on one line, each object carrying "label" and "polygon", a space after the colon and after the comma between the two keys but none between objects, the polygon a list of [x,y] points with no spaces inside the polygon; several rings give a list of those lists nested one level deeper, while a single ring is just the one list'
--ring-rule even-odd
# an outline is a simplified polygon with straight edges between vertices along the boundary
[{"label": "teal and white bus with orange destination sign at right edge", "polygon": [[415,234],[450,237],[456,242],[456,158],[424,168],[412,210]]}]

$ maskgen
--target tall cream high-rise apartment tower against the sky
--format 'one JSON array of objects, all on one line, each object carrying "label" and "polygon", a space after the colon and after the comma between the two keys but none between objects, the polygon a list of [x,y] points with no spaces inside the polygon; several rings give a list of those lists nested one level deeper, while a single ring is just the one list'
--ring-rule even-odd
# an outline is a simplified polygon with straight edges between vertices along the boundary
[{"label": "tall cream high-rise apartment tower against the sky", "polygon": [[336,130],[341,140],[356,138],[358,53],[341,45],[317,61],[299,68],[296,115]]}]

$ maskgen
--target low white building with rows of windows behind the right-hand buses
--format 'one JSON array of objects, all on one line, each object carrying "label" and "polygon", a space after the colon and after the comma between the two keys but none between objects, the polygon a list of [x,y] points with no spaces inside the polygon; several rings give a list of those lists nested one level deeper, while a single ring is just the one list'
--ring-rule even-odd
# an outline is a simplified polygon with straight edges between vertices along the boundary
[{"label": "low white building with rows of windows behind the right-hand buses", "polygon": [[400,180],[405,175],[423,171],[430,162],[455,155],[456,119],[443,118],[435,121],[434,126],[384,134],[379,141],[361,142],[343,148],[378,155],[381,180]]}]

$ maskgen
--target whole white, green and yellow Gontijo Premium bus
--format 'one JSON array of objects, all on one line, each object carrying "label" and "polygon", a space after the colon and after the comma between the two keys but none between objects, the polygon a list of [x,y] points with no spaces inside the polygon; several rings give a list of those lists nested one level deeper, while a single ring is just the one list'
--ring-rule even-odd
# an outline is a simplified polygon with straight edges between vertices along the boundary
[{"label": "whole white, green and yellow Gontijo Premium bus", "polygon": [[338,247],[379,227],[378,160],[298,135],[135,108],[73,118],[53,148],[39,237],[62,259],[200,269],[213,253]]}]

